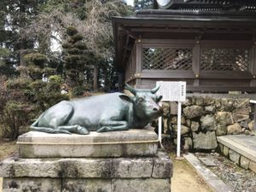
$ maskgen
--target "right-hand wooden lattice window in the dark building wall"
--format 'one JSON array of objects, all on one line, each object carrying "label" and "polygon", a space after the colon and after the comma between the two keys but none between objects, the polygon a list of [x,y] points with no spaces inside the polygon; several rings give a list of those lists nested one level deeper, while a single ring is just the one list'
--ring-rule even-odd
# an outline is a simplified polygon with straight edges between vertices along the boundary
[{"label": "right-hand wooden lattice window in the dark building wall", "polygon": [[249,49],[202,49],[200,68],[203,71],[248,71]]}]

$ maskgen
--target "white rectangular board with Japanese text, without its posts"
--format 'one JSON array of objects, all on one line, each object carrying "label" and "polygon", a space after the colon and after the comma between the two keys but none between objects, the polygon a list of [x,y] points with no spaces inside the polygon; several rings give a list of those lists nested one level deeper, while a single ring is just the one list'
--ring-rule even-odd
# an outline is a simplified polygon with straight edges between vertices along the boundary
[{"label": "white rectangular board with Japanese text, without its posts", "polygon": [[156,85],[160,85],[160,90],[157,93],[163,96],[162,101],[185,102],[186,82],[157,81]]}]

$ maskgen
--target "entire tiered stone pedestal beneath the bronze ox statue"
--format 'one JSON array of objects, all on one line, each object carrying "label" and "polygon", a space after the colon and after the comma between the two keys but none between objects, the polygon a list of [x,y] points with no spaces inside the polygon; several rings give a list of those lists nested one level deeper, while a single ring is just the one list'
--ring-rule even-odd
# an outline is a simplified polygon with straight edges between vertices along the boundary
[{"label": "entire tiered stone pedestal beneath the bronze ox statue", "polygon": [[155,138],[154,131],[148,130],[89,136],[26,133],[19,138],[20,157],[0,164],[3,192],[170,192],[172,161],[157,150]]}]

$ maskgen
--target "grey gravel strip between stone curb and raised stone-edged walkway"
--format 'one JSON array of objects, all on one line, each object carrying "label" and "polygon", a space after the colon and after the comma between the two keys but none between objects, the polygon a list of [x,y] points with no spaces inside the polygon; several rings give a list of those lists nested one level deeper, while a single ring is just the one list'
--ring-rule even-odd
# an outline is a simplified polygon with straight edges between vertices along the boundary
[{"label": "grey gravel strip between stone curb and raised stone-edged walkway", "polygon": [[198,158],[207,157],[212,160],[216,166],[207,167],[235,192],[256,192],[256,174],[254,172],[236,166],[236,163],[218,153],[195,153],[195,155]]}]

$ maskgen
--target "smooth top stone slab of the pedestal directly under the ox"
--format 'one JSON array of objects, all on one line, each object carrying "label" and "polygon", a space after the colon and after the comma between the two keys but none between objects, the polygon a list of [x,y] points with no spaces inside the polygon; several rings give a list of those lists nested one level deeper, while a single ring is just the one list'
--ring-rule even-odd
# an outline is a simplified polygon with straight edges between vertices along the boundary
[{"label": "smooth top stone slab of the pedestal directly under the ox", "polygon": [[112,131],[90,135],[30,131],[18,138],[22,158],[154,156],[158,137],[152,129]]}]

